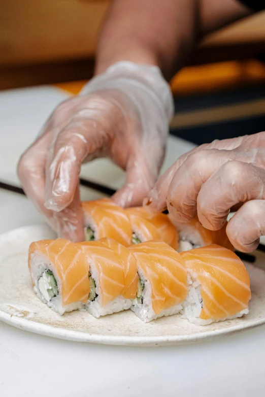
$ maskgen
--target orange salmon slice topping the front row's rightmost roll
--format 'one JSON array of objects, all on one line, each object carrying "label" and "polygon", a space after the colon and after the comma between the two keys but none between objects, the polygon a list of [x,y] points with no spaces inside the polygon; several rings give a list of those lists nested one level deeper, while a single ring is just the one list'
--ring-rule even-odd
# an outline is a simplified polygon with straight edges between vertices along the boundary
[{"label": "orange salmon slice topping the front row's rightmost roll", "polygon": [[200,318],[219,320],[248,308],[248,272],[232,251],[216,244],[181,252],[188,272],[201,284]]}]

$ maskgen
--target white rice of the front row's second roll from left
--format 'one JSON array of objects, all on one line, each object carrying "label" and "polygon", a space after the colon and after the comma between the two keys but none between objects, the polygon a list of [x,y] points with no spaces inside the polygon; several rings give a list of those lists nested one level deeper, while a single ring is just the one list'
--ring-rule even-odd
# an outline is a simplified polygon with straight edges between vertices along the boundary
[{"label": "white rice of the front row's second roll from left", "polygon": [[125,299],[123,296],[118,295],[112,301],[108,302],[105,306],[101,306],[101,289],[99,287],[98,272],[95,266],[90,263],[90,274],[95,282],[96,298],[86,304],[86,310],[94,317],[106,316],[107,314],[118,313],[122,310],[128,310],[131,307],[132,300]]}]

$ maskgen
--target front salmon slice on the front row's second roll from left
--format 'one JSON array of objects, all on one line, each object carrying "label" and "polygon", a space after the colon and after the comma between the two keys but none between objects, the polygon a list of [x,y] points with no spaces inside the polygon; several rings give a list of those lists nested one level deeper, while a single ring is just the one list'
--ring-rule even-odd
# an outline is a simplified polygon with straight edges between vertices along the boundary
[{"label": "front salmon slice on the front row's second roll from left", "polygon": [[95,283],[100,291],[98,297],[103,307],[124,291],[123,261],[113,249],[99,241],[84,242],[80,245],[90,268],[93,266],[97,271]]}]

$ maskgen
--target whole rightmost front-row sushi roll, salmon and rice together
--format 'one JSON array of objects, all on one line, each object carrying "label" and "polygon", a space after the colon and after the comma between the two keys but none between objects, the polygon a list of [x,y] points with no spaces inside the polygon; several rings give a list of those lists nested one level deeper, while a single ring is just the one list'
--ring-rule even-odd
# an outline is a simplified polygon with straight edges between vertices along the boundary
[{"label": "whole rightmost front-row sushi roll, salmon and rice together", "polygon": [[184,318],[196,325],[207,325],[248,313],[249,275],[234,252],[212,244],[180,255],[188,272]]}]

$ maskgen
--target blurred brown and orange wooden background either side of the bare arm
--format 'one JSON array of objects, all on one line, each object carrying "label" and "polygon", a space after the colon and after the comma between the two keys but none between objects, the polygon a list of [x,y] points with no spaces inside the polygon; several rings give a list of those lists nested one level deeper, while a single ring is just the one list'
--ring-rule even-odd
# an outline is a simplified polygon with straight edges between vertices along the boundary
[{"label": "blurred brown and orange wooden background either side of the bare arm", "polygon": [[[97,32],[109,4],[0,0],[0,89],[91,78]],[[264,26],[265,13],[259,13],[207,37],[192,66],[173,80],[174,89],[265,82]],[[222,63],[209,66],[212,62]]]}]

